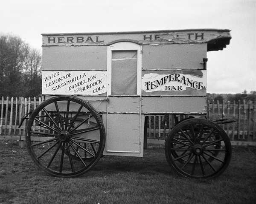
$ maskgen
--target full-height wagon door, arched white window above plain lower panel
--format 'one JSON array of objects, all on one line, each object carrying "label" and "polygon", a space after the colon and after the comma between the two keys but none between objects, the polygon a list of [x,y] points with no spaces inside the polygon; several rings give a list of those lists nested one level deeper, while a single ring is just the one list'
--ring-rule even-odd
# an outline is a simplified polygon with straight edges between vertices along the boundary
[{"label": "full-height wagon door, arched white window above plain lower panel", "polygon": [[141,46],[108,46],[108,105],[105,155],[143,156]]}]

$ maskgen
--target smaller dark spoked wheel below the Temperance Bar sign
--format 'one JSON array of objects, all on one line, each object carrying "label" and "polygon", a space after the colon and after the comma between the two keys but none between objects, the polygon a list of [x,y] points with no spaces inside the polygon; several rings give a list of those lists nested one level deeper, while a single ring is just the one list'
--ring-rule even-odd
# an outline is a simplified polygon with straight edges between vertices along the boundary
[{"label": "smaller dark spoked wheel below the Temperance Bar sign", "polygon": [[173,170],[187,178],[215,178],[230,163],[232,147],[225,131],[206,119],[177,124],[166,139],[166,159]]}]

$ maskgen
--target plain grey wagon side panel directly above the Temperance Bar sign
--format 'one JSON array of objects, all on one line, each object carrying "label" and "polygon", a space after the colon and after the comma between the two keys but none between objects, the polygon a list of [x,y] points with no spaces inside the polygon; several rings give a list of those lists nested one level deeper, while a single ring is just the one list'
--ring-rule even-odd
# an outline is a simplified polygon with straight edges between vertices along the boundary
[{"label": "plain grey wagon side panel directly above the Temperance Bar sign", "polygon": [[207,43],[143,45],[142,70],[203,69]]}]

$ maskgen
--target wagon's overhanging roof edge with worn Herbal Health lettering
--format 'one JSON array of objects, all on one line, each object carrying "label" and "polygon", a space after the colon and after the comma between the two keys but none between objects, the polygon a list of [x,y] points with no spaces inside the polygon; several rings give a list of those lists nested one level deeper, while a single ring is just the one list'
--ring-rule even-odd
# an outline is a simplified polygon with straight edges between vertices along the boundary
[{"label": "wagon's overhanging roof edge with worn Herbal Health lettering", "polygon": [[207,51],[222,50],[231,39],[228,29],[58,33],[42,36],[42,46],[111,45],[124,41],[140,45],[207,43]]}]

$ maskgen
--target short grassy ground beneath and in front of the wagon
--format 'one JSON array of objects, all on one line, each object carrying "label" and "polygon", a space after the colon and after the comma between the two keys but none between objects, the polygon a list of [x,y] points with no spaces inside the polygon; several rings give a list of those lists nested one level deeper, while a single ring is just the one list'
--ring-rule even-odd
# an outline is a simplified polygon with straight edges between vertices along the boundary
[{"label": "short grassy ground beneath and in front of the wagon", "polygon": [[213,180],[177,176],[163,149],[143,158],[104,156],[78,178],[48,176],[25,147],[0,140],[0,204],[253,204],[256,150],[233,149],[227,170]]}]

